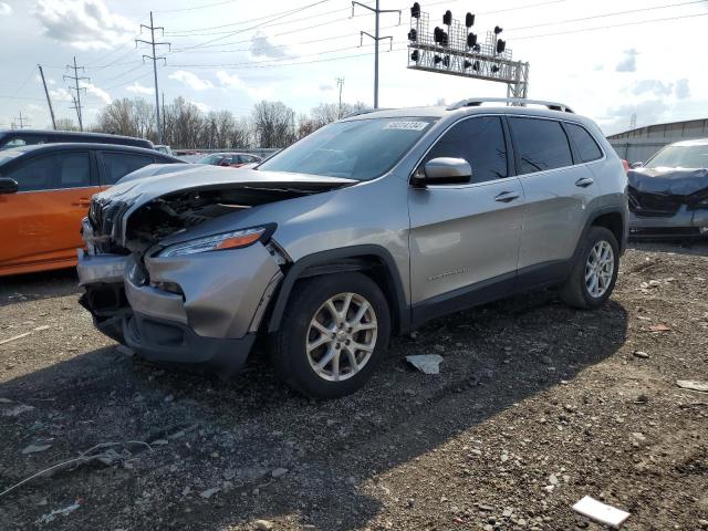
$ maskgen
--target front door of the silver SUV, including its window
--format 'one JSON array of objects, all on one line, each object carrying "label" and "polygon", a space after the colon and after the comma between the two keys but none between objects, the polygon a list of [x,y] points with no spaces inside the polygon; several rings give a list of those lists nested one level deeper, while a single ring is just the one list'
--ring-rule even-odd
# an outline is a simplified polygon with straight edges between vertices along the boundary
[{"label": "front door of the silver SUV, including its window", "polygon": [[511,289],[524,201],[511,176],[508,142],[499,116],[469,117],[444,133],[421,162],[464,158],[472,178],[466,185],[409,189],[415,320]]}]

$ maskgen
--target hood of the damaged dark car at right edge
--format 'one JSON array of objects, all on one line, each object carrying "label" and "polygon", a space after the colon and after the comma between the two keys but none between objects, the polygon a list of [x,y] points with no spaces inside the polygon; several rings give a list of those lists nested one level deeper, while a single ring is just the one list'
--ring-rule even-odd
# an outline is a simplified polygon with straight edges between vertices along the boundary
[{"label": "hood of the damaged dark car at right edge", "polygon": [[639,194],[688,197],[708,195],[708,169],[637,168],[627,173],[629,188]]}]

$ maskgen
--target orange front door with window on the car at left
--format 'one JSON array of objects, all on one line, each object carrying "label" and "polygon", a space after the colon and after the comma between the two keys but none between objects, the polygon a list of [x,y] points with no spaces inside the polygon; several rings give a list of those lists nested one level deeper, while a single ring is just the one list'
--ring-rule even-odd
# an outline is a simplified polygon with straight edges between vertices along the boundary
[{"label": "orange front door with window on the car at left", "polygon": [[3,177],[19,191],[0,196],[0,272],[72,266],[83,244],[81,220],[98,191],[91,152],[33,157]]}]

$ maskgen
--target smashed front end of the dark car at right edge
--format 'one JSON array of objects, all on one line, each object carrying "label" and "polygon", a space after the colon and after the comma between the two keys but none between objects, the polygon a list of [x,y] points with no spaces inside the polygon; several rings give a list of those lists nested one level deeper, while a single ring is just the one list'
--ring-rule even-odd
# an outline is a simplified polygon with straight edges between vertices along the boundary
[{"label": "smashed front end of the dark car at right edge", "polygon": [[708,236],[708,170],[639,168],[628,171],[633,237]]}]

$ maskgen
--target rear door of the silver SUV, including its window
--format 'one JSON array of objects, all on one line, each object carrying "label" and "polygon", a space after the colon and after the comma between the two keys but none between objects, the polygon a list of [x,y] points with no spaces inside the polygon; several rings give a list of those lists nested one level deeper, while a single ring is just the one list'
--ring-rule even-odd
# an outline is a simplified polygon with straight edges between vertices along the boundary
[{"label": "rear door of the silver SUV, including its window", "polygon": [[562,262],[572,258],[584,229],[587,206],[598,194],[597,184],[582,160],[576,160],[577,155],[573,157],[561,122],[540,117],[508,121],[527,201],[519,271],[545,269],[551,277],[554,271],[562,274]]}]

